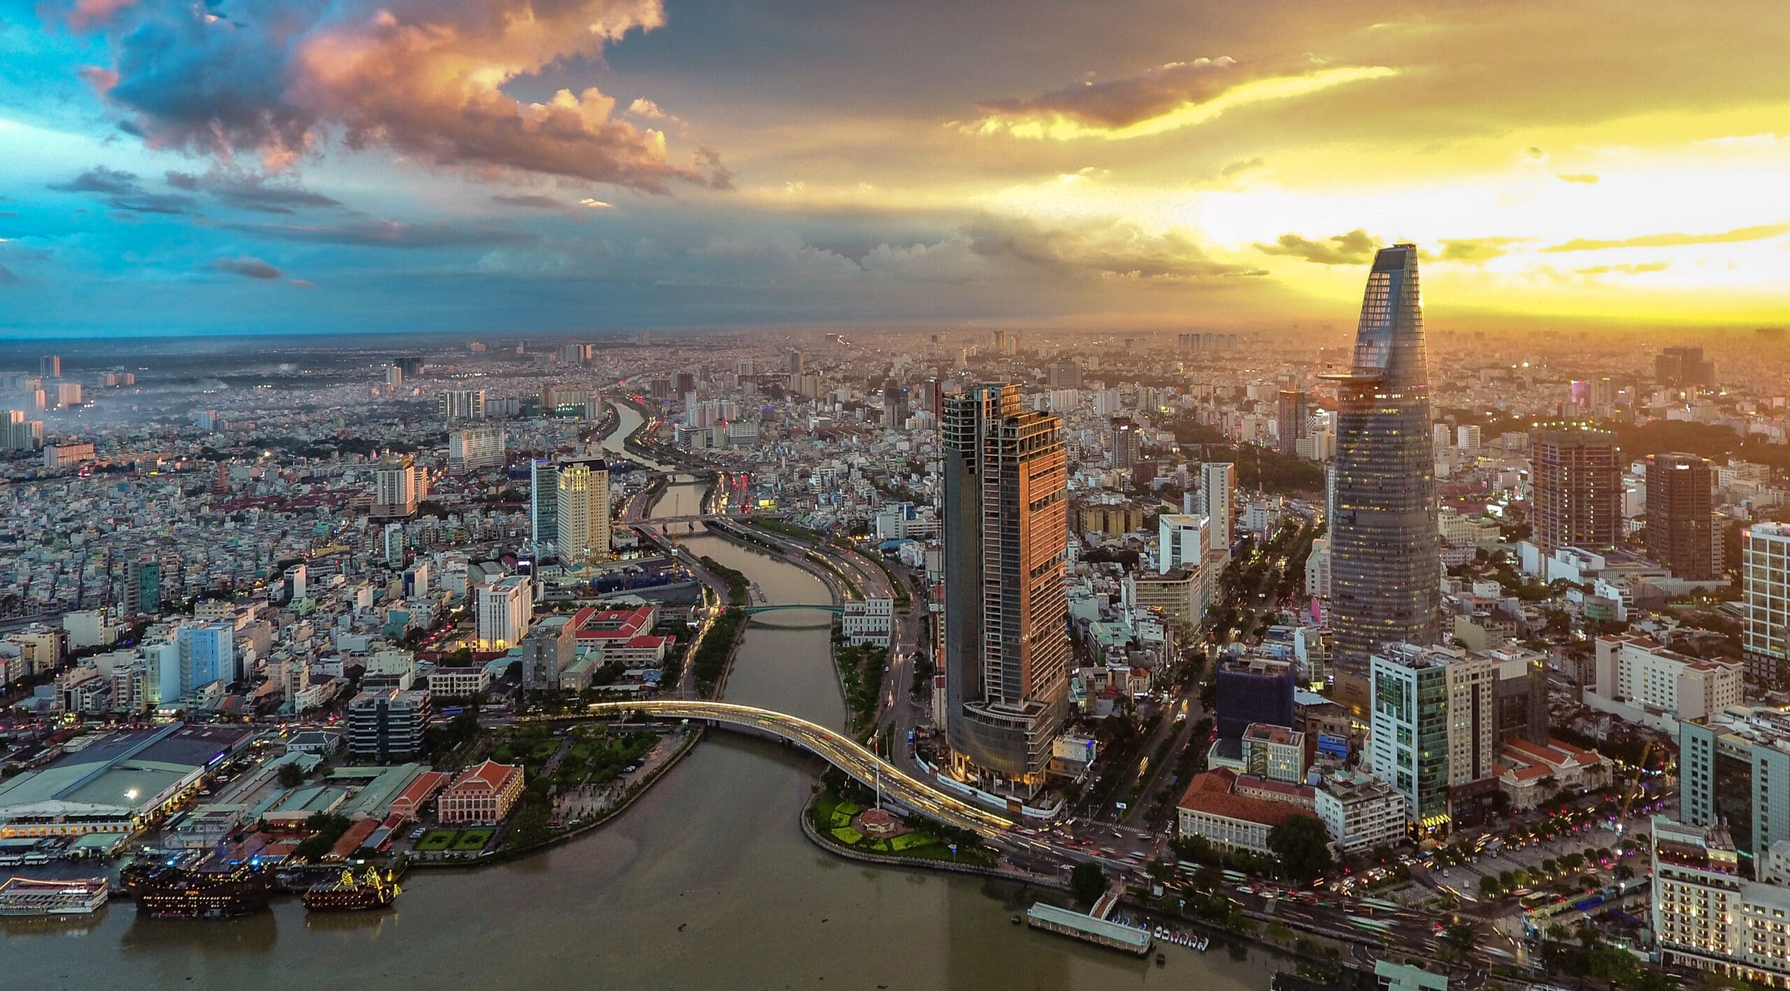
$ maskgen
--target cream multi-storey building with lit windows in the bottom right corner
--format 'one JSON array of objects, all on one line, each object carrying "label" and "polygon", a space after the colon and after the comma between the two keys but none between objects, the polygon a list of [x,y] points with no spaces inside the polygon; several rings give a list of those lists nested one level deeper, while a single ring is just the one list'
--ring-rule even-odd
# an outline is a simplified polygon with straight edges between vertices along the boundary
[{"label": "cream multi-storey building with lit windows in the bottom right corner", "polygon": [[1649,835],[1650,921],[1661,966],[1790,986],[1790,887],[1747,880],[1740,851],[1720,825],[1654,816]]}]

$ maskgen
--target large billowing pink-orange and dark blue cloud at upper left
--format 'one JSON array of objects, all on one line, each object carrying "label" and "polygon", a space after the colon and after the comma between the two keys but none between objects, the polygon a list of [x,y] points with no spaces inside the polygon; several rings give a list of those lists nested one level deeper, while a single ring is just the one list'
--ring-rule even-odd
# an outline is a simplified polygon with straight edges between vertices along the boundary
[{"label": "large billowing pink-orange and dark blue cloud at upper left", "polygon": [[251,154],[279,170],[340,134],[354,150],[385,147],[480,177],[644,191],[729,182],[712,154],[673,165],[664,132],[616,118],[616,100],[594,88],[541,102],[503,89],[661,27],[662,0],[265,0],[229,16],[136,0],[104,18],[77,14],[70,27],[106,38],[104,72],[116,80],[98,82],[109,82],[118,127],[152,148],[224,163]]}]

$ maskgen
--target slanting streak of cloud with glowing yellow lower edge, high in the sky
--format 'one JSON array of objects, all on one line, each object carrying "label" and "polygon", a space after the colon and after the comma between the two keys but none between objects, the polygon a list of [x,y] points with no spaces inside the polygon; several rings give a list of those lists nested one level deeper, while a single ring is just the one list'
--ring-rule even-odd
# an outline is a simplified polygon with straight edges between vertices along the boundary
[{"label": "slanting streak of cloud with glowing yellow lower edge, high in the sky", "polygon": [[1239,63],[1230,57],[1169,63],[1124,79],[1083,79],[1038,97],[988,100],[970,134],[1013,138],[1142,138],[1205,123],[1228,109],[1305,97],[1332,86],[1384,79],[1384,66],[1326,66],[1317,61]]}]

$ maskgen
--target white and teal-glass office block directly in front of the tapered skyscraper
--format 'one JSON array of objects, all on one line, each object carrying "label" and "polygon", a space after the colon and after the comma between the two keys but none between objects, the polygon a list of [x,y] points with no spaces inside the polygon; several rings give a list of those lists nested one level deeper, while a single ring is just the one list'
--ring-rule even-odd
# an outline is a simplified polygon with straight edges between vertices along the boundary
[{"label": "white and teal-glass office block directly in front of the tapered skyscraper", "polygon": [[1487,658],[1384,644],[1369,658],[1369,766],[1405,796],[1418,832],[1446,830],[1457,807],[1498,791],[1496,673]]}]

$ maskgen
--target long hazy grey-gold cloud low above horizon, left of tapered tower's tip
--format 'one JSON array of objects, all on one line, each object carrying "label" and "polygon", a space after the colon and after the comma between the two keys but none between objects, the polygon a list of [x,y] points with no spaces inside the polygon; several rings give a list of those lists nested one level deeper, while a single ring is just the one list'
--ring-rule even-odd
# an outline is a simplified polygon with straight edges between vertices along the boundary
[{"label": "long hazy grey-gold cloud low above horizon, left of tapered tower's tip", "polygon": [[967,234],[970,250],[981,258],[1013,259],[1069,275],[1212,279],[1262,274],[1212,261],[1185,233],[1153,234],[1113,218],[1045,225],[1017,216],[981,216]]}]

